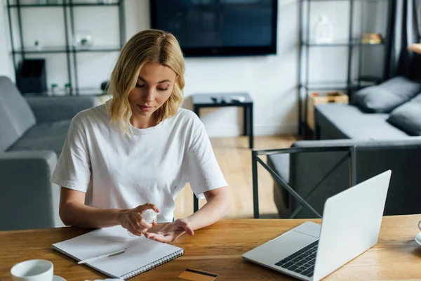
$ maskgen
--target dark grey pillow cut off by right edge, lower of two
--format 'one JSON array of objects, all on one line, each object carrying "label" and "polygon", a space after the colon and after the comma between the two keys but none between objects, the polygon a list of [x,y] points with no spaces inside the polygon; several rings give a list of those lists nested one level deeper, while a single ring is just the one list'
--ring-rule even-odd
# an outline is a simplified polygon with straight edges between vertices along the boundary
[{"label": "dark grey pillow cut off by right edge, lower of two", "polygon": [[421,136],[421,94],[394,109],[387,122],[411,136]]}]

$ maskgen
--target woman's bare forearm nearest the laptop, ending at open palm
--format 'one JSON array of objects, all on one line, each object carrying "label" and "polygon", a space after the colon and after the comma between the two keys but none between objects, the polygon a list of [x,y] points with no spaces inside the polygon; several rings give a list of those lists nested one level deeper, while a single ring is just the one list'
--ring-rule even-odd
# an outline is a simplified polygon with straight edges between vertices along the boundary
[{"label": "woman's bare forearm nearest the laptop, ending at open palm", "polygon": [[190,228],[196,230],[216,223],[229,214],[230,203],[231,200],[226,195],[215,196],[208,200],[199,211],[186,218]]}]

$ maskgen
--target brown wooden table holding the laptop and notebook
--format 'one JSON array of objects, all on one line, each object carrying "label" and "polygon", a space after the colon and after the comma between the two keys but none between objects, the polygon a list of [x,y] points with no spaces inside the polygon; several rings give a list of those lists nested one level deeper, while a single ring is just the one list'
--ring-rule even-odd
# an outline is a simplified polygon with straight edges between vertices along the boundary
[{"label": "brown wooden table holding the laptop and notebook", "polygon": [[[420,280],[421,247],[414,240],[419,232],[417,222],[420,220],[421,215],[385,216],[377,245],[326,277],[326,280]],[[177,276],[186,268],[217,273],[217,281],[293,280],[282,273],[244,261],[241,254],[302,222],[222,220],[197,230],[194,237],[180,237],[174,244],[185,249],[184,256],[131,280],[180,280]],[[1,281],[11,280],[12,266],[27,259],[52,261],[55,275],[65,277],[67,281],[105,279],[107,276],[88,266],[79,266],[74,259],[51,249],[51,244],[87,231],[80,228],[53,228],[0,232]]]}]

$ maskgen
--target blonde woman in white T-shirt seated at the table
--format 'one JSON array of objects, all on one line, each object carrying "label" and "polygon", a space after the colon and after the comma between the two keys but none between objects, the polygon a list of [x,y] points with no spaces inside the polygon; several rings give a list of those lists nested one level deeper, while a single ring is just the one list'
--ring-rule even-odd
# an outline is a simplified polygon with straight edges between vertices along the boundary
[{"label": "blonde woman in white T-shirt seated at the table", "polygon": [[[172,34],[145,30],[126,43],[110,79],[112,99],[72,119],[51,176],[62,187],[63,223],[121,225],[134,235],[173,242],[228,214],[227,183],[203,123],[180,108],[184,72]],[[174,200],[187,182],[206,204],[174,221]],[[87,192],[92,202],[85,204]],[[158,233],[147,232],[156,221],[145,221],[146,209],[168,222]]]}]

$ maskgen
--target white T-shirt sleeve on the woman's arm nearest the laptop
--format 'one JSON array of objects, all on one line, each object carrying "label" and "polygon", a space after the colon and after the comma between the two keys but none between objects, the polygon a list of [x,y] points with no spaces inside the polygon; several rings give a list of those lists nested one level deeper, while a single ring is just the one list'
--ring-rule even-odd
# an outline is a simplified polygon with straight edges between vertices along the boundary
[{"label": "white T-shirt sleeve on the woman's arm nearest the laptop", "polygon": [[187,181],[196,197],[204,199],[203,192],[227,186],[224,175],[210,144],[205,126],[198,119],[187,149]]}]

